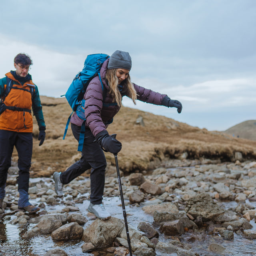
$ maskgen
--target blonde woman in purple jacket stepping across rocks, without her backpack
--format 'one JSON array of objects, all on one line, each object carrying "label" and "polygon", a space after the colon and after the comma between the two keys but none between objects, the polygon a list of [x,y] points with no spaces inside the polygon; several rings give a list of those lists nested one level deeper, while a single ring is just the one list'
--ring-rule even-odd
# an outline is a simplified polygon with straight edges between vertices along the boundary
[{"label": "blonde woman in purple jacket stepping across rocks, without her backpack", "polygon": [[[72,164],[65,172],[54,172],[53,174],[55,192],[58,196],[63,196],[63,184],[68,184],[74,178],[92,168],[88,211],[102,220],[111,217],[102,203],[106,169],[106,158],[102,148],[112,154],[117,154],[122,148],[121,142],[110,136],[106,130],[110,120],[120,110],[122,97],[128,96],[134,104],[136,104],[136,100],[141,100],[155,105],[175,107],[178,113],[182,110],[182,104],[178,100],[171,100],[165,94],[153,92],[132,83],[129,74],[131,67],[132,60],[128,52],[117,50],[104,61],[100,69],[100,76],[103,86],[106,88],[106,95],[103,97],[99,76],[91,80],[84,94],[86,129],[82,156],[78,162]],[[70,122],[73,135],[79,141],[83,120],[75,112]]]}]

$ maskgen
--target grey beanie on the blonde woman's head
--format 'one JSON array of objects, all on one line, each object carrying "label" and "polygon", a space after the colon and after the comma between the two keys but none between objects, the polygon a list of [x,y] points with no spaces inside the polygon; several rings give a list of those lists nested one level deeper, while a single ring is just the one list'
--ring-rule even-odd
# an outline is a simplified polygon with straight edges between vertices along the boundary
[{"label": "grey beanie on the blonde woman's head", "polygon": [[124,68],[131,70],[132,59],[128,52],[115,51],[109,58],[108,69],[112,68]]}]

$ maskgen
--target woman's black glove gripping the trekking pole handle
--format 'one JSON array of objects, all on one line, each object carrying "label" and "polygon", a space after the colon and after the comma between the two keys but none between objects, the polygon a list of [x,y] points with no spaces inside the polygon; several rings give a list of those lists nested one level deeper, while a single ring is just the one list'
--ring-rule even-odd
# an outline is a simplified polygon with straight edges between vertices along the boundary
[{"label": "woman's black glove gripping the trekking pole handle", "polygon": [[122,148],[122,144],[120,141],[116,140],[115,134],[109,135],[106,130],[99,132],[95,136],[95,139],[96,139],[96,142],[106,152],[110,152],[116,155]]}]

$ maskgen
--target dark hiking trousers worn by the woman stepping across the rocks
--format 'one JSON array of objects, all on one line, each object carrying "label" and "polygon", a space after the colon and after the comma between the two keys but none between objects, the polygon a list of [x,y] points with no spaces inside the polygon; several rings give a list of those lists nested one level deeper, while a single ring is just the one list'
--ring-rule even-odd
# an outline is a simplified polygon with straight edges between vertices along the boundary
[{"label": "dark hiking trousers worn by the woman stepping across the rocks", "polygon": [[[79,141],[81,127],[71,124],[71,128],[74,137]],[[104,193],[106,165],[107,162],[103,150],[95,142],[95,137],[91,130],[86,128],[82,156],[79,161],[72,164],[65,172],[60,174],[60,181],[63,184],[68,184],[74,178],[92,168],[90,174],[90,202],[92,204],[101,204]]]}]

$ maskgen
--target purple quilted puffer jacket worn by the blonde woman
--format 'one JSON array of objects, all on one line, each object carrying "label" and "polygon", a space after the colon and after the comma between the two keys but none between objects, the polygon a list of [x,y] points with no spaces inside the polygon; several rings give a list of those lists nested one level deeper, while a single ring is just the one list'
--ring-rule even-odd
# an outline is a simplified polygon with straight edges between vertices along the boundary
[{"label": "purple quilted puffer jacket worn by the blonde woman", "polygon": [[[101,69],[100,77],[102,79],[103,86],[106,87],[106,97],[103,100],[102,86],[100,78],[96,76],[92,79],[88,85],[84,94],[85,106],[84,114],[86,117],[86,127],[89,127],[92,134],[96,136],[99,132],[106,130],[108,122],[118,113],[120,107],[113,104],[113,98],[109,94],[109,86],[106,84],[105,76],[108,67],[108,60],[106,60]],[[162,99],[166,94],[160,94],[153,92],[152,90],[145,89],[137,84],[133,84],[138,94],[137,99],[143,102],[152,103],[155,105],[162,105]],[[127,96],[125,90],[121,92],[122,97]],[[109,104],[109,105],[108,105]],[[71,117],[70,122],[78,126],[82,125],[83,120],[77,116],[76,113]]]}]

